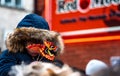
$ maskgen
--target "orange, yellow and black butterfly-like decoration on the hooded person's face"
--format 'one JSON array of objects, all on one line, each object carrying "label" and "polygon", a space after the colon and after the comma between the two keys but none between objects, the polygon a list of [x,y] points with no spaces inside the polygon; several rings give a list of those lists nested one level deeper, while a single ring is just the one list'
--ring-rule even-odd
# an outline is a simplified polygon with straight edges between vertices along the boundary
[{"label": "orange, yellow and black butterfly-like decoration on the hooded person's face", "polygon": [[40,55],[52,61],[57,53],[57,47],[50,41],[44,41],[44,44],[30,44],[26,48],[37,51]]}]

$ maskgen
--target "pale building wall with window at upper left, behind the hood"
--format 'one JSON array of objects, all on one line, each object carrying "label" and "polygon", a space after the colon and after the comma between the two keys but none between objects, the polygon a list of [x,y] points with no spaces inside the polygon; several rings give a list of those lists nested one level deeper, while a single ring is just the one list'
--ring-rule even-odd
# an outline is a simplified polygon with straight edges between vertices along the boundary
[{"label": "pale building wall with window at upper left, behind the hood", "polygon": [[6,35],[28,13],[34,12],[34,0],[0,0],[0,47],[4,50]]}]

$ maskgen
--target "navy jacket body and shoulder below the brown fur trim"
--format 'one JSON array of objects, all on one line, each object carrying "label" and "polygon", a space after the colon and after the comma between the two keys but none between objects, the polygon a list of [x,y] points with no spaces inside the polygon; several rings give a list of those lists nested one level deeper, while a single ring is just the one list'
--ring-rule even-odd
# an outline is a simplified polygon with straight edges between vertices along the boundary
[{"label": "navy jacket body and shoulder below the brown fur trim", "polygon": [[26,53],[10,53],[8,50],[3,51],[0,56],[0,76],[8,76],[11,66],[20,64],[22,61],[28,63],[33,60]]}]

